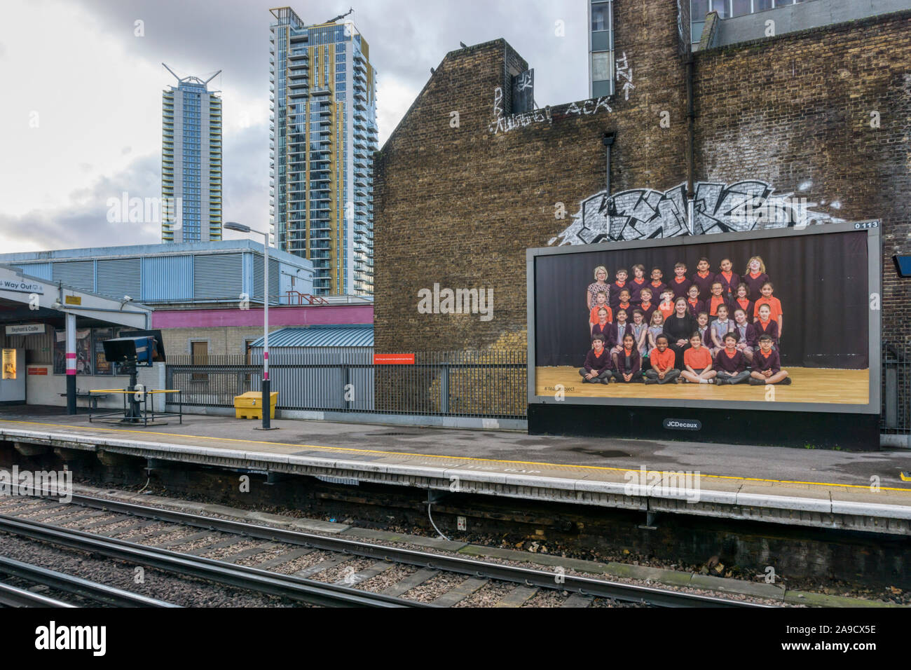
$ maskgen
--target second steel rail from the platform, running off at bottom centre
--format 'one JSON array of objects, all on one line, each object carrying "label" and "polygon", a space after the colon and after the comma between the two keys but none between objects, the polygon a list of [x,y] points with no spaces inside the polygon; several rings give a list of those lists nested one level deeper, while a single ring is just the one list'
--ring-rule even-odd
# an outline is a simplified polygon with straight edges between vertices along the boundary
[{"label": "second steel rail from the platform, running off at bottom centre", "polygon": [[99,553],[108,558],[138,563],[165,572],[179,572],[211,582],[291,598],[305,603],[333,607],[432,606],[378,593],[358,591],[337,584],[314,582],[277,572],[232,565],[176,551],[100,537],[95,533],[63,529],[38,521],[18,520],[5,515],[0,515],[0,531],[78,551]]}]

